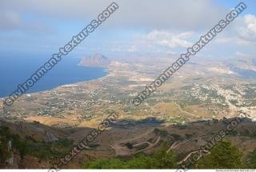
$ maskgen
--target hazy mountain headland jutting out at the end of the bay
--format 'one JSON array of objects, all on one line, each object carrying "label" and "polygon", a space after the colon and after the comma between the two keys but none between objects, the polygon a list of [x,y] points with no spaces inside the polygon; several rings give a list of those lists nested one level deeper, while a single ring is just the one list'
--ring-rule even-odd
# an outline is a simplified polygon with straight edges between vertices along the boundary
[{"label": "hazy mountain headland jutting out at the end of the bay", "polygon": [[110,60],[106,58],[106,56],[102,54],[93,54],[89,57],[82,58],[79,65],[81,66],[108,66],[110,64]]}]

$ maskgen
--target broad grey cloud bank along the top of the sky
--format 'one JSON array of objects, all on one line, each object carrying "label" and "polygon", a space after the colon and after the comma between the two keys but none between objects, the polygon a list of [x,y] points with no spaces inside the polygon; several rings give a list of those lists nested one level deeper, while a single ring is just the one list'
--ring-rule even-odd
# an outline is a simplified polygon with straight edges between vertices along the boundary
[{"label": "broad grey cloud bank along the top of the sky", "polygon": [[[86,21],[96,18],[110,0],[4,0],[1,10],[46,18]],[[116,0],[119,10],[106,26],[151,27],[154,29],[202,29],[213,26],[227,10],[212,0]]]}]

